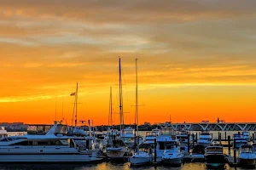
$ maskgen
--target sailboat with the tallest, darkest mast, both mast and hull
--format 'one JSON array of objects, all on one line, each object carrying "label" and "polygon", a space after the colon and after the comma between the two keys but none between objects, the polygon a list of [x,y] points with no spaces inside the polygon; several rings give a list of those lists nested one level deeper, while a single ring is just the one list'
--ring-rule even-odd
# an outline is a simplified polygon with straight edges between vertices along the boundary
[{"label": "sailboat with the tallest, darkest mast, both mast and hull", "polygon": [[[122,79],[121,79],[121,59],[119,58],[119,114],[120,114],[120,133],[122,134],[122,126],[124,123],[123,116],[123,96],[122,96]],[[122,139],[111,140],[109,147],[107,147],[107,156],[111,160],[124,160],[124,156],[128,151],[128,147]]]}]

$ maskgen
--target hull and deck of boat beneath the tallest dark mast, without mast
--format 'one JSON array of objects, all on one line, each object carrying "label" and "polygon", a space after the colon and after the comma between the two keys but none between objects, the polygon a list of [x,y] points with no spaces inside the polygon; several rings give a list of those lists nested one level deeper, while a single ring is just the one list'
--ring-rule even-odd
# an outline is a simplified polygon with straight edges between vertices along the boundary
[{"label": "hull and deck of boat beneath the tallest dark mast, without mast", "polygon": [[128,148],[121,139],[113,139],[112,144],[107,147],[107,156],[112,160],[123,159]]}]

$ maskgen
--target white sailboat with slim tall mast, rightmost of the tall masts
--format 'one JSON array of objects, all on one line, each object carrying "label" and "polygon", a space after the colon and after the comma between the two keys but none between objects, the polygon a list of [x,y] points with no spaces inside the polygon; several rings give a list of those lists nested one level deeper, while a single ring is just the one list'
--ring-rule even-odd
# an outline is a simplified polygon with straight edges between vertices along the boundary
[{"label": "white sailboat with slim tall mast, rightmost of the tall masts", "polygon": [[136,138],[136,144],[137,144],[137,151],[129,158],[129,161],[131,162],[131,165],[143,165],[148,164],[153,156],[152,154],[149,154],[147,151],[139,150],[139,135],[138,135],[138,99],[137,99],[137,59],[136,59],[136,124],[137,124],[137,138]]}]

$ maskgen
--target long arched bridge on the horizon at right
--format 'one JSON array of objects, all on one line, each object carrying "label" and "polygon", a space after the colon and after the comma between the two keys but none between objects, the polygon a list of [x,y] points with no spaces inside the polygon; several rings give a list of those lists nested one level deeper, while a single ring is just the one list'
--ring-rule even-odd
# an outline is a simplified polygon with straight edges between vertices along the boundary
[{"label": "long arched bridge on the horizon at right", "polygon": [[256,131],[256,122],[166,122],[161,123],[160,127],[172,127],[174,130],[189,131]]}]

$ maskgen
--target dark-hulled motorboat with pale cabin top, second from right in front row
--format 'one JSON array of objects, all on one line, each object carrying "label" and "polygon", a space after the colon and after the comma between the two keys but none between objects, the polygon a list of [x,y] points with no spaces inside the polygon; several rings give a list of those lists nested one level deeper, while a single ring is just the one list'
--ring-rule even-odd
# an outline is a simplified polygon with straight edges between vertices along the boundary
[{"label": "dark-hulled motorboat with pale cabin top, second from right in front row", "polygon": [[223,147],[219,144],[207,146],[205,151],[205,160],[207,167],[224,168],[225,155]]}]

